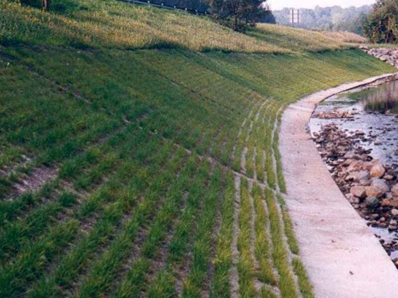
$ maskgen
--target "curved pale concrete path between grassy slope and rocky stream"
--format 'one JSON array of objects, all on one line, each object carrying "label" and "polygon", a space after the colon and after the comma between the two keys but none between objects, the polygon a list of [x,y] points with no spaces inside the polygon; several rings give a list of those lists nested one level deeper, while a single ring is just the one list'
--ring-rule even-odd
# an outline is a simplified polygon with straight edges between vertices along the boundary
[{"label": "curved pale concrete path between grassy slope and rocky stream", "polygon": [[309,118],[321,100],[386,76],[309,95],[290,105],[282,118],[286,201],[318,298],[398,297],[398,270],[340,192],[307,132]]}]

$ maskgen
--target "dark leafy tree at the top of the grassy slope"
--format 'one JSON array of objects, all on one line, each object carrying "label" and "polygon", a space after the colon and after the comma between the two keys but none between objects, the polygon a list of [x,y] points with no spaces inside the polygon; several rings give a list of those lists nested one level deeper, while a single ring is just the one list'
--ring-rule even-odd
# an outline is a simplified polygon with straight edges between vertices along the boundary
[{"label": "dark leafy tree at the top of the grassy slope", "polygon": [[255,26],[267,12],[263,0],[204,0],[214,18],[235,31]]}]

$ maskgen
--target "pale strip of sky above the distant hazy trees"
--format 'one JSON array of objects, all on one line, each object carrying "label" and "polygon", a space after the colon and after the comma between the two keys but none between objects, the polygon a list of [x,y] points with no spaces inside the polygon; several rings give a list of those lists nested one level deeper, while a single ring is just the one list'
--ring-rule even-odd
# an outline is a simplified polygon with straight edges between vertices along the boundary
[{"label": "pale strip of sky above the distant hazy trees", "polygon": [[284,7],[292,8],[314,8],[316,5],[320,7],[327,7],[338,5],[343,8],[349,6],[362,6],[375,3],[376,0],[268,0],[267,3],[271,5],[274,10],[279,10]]}]

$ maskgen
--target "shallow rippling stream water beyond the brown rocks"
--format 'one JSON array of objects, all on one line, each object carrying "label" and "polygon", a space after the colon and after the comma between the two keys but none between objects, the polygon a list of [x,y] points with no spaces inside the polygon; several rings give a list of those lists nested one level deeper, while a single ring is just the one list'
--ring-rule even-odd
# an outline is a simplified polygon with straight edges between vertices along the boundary
[{"label": "shallow rippling stream water beyond the brown rocks", "polygon": [[[378,99],[376,99],[377,96]],[[378,101],[375,105],[374,102]],[[379,111],[371,111],[372,108]],[[318,119],[311,118],[311,133],[319,132],[326,124],[335,123],[347,134],[363,131],[367,141],[361,141],[365,149],[372,149],[370,155],[385,164],[398,168],[398,118],[385,114],[386,107],[398,112],[398,80],[384,83],[368,89],[358,88],[340,93],[324,100],[315,109],[315,114],[331,110],[350,111],[355,113],[353,119]]]}]

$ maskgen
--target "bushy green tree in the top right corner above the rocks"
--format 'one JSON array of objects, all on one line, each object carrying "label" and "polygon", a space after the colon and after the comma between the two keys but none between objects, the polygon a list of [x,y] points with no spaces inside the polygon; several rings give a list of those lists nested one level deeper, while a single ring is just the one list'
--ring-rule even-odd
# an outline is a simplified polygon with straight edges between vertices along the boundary
[{"label": "bushy green tree in the top right corner above the rocks", "polygon": [[398,43],[398,0],[378,0],[364,31],[372,42]]}]

